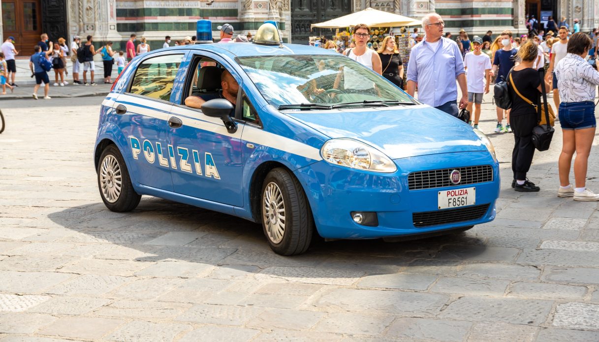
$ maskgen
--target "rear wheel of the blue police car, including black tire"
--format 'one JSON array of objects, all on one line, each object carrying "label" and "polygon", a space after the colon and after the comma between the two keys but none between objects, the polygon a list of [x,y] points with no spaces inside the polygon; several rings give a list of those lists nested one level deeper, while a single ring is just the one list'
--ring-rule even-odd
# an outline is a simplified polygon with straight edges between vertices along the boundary
[{"label": "rear wheel of the blue police car, including black tire", "polygon": [[[110,211],[132,211],[137,207],[141,195],[133,189],[125,160],[115,145],[108,145],[102,151],[96,171],[100,197]],[[106,191],[102,190],[103,185]]]}]

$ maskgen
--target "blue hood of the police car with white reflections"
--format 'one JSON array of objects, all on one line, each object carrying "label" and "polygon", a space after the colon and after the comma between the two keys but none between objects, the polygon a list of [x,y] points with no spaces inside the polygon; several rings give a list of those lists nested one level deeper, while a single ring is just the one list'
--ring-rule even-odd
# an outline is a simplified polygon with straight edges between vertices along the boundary
[{"label": "blue hood of the police car with white reflections", "polygon": [[470,125],[426,105],[285,113],[331,138],[365,142],[392,159],[487,151]]}]

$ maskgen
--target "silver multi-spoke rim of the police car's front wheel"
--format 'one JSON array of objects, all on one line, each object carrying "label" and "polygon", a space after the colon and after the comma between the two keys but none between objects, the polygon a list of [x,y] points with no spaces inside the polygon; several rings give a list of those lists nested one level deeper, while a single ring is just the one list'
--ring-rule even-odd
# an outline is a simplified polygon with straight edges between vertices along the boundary
[{"label": "silver multi-spoke rim of the police car's front wheel", "polygon": [[279,185],[274,182],[268,183],[264,189],[262,220],[266,226],[268,239],[274,244],[279,244],[285,235],[285,200]]}]

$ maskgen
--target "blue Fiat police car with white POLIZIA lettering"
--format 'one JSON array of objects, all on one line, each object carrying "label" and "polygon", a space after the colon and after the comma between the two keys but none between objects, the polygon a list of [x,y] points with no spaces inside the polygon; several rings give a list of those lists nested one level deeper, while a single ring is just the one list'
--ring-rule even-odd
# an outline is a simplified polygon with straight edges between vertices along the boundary
[{"label": "blue Fiat police car with white POLIZIA lettering", "polygon": [[[141,195],[261,223],[279,254],[325,239],[420,237],[495,218],[500,178],[480,131],[329,50],[196,44],[131,61],[102,103],[102,200]],[[168,223],[165,223],[168,224]]]}]

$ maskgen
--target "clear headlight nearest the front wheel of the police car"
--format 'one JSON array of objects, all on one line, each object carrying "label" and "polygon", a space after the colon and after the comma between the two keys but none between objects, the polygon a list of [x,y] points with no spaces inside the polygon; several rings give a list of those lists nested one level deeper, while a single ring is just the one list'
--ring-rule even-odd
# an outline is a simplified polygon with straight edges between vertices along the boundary
[{"label": "clear headlight nearest the front wheel of the police car", "polygon": [[374,172],[395,172],[397,166],[383,152],[353,139],[331,139],[320,149],[331,164]]}]

